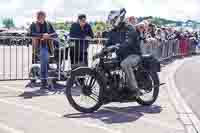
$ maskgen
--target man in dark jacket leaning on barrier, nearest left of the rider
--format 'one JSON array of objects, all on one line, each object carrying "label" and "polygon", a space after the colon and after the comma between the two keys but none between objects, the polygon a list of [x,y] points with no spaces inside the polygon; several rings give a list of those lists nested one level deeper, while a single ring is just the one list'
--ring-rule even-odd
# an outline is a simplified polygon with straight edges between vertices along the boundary
[{"label": "man in dark jacket leaning on barrier, nearest left of the rider", "polygon": [[88,65],[88,39],[93,38],[94,33],[91,26],[86,22],[86,15],[81,14],[78,16],[78,22],[72,24],[69,36],[75,42],[75,46],[70,49],[71,64]]}]

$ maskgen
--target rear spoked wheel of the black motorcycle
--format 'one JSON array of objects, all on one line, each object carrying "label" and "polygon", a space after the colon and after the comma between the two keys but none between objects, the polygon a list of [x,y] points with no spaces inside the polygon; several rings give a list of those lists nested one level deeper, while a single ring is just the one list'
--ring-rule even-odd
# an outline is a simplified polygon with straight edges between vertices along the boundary
[{"label": "rear spoked wheel of the black motorcycle", "polygon": [[143,95],[136,99],[136,101],[141,105],[152,105],[158,98],[159,94],[160,83],[158,74],[155,72],[146,73],[146,81],[144,81],[143,84],[146,84],[144,86],[145,88],[140,90]]}]

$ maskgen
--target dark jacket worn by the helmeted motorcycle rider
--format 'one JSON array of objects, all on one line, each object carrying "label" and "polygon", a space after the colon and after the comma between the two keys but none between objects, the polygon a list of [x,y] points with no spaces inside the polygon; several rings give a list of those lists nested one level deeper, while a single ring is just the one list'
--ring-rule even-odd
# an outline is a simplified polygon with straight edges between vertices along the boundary
[{"label": "dark jacket worn by the helmeted motorcycle rider", "polygon": [[[123,37],[120,36],[120,38],[124,38],[123,40],[120,40],[120,42],[118,42],[120,43],[120,46],[117,50],[117,55],[120,57],[121,60],[124,60],[131,54],[141,55],[141,37],[140,32],[136,30],[136,28],[124,23],[121,25],[120,28],[114,29],[111,32],[113,31],[120,33],[120,35],[123,35]],[[112,44],[113,40],[110,39],[113,39],[113,37],[109,37],[107,45],[115,45]]]}]

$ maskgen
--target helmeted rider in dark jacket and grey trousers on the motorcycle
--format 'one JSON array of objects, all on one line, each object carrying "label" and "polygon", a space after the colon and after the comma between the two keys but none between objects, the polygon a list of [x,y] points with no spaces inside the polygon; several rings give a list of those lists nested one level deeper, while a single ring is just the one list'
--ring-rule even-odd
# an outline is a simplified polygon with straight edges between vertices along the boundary
[{"label": "helmeted rider in dark jacket and grey trousers on the motorcycle", "polygon": [[[131,91],[131,96],[139,97],[141,92],[138,88],[133,67],[135,67],[141,60],[141,34],[145,30],[145,23],[136,24],[134,27],[125,21],[126,10],[120,9],[119,11],[111,11],[108,16],[108,22],[112,26],[110,32],[124,32],[124,38],[120,40],[120,45],[116,52],[121,60],[121,68],[127,75],[128,87]],[[120,34],[121,35],[121,34]],[[113,42],[114,37],[109,37],[107,46],[115,45]]]}]

